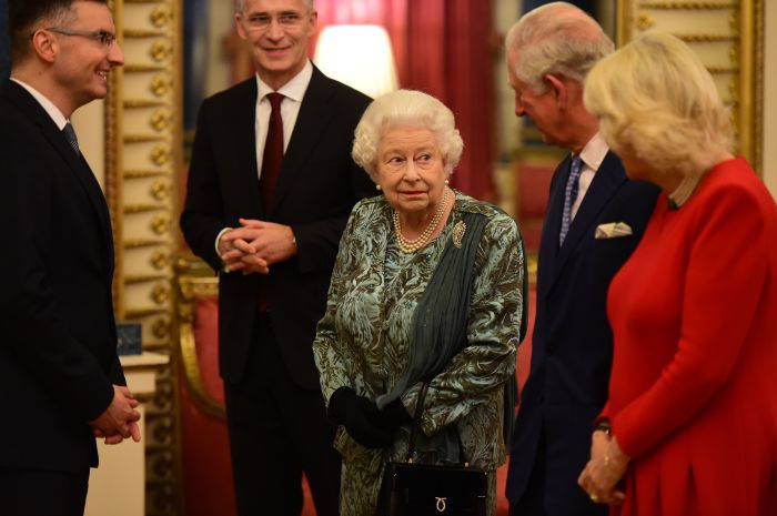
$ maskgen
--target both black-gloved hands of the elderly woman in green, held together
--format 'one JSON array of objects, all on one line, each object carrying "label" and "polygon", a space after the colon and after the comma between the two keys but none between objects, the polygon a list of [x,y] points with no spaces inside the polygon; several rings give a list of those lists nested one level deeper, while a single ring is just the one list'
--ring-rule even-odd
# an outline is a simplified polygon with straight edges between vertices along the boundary
[{"label": "both black-gloved hands of the elderly woman in green, held together", "polygon": [[389,446],[396,429],[413,421],[400,398],[379,411],[375,402],[346,386],[332,394],[327,414],[343,425],[356,443],[367,448]]}]

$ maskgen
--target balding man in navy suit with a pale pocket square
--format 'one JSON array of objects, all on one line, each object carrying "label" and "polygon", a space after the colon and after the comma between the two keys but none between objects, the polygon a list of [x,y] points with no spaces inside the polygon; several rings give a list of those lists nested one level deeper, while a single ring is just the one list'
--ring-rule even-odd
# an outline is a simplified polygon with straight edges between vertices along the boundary
[{"label": "balding man in navy suit with a pale pocket square", "polygon": [[506,45],[515,114],[572,151],[553,175],[543,223],[532,368],[507,477],[511,514],[603,516],[606,506],[589,499],[577,476],[607,398],[607,287],[642,237],[657,189],[626,179],[583,104],[586,72],[613,51],[592,18],[554,2],[526,13]]}]

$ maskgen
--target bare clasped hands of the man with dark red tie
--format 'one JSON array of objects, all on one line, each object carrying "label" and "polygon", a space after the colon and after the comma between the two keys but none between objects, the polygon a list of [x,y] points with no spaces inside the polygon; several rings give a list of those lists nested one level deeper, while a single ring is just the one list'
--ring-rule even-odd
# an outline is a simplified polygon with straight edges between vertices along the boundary
[{"label": "bare clasped hands of the man with dark red tie", "polygon": [[268,274],[270,265],[296,253],[294,233],[287,225],[249,219],[240,219],[240,225],[219,239],[219,254],[226,272]]}]

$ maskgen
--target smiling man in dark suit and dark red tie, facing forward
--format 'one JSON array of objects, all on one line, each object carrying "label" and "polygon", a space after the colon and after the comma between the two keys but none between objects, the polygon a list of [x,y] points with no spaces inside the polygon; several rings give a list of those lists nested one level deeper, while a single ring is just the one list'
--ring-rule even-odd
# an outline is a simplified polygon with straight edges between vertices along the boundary
[{"label": "smiling man in dark suit and dark red tie, facing forward", "polygon": [[335,515],[340,457],[312,343],[347,216],[374,193],[350,156],[370,99],[310,62],[312,1],[244,0],[235,20],[258,75],[202,103],[181,227],[220,273],[240,514],[300,514],[304,472],[317,514]]}]

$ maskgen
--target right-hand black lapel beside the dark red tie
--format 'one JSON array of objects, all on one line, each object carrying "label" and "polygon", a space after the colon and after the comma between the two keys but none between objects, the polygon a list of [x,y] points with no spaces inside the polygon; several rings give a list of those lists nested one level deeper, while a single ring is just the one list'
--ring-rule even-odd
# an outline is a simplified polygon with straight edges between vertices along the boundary
[{"label": "right-hand black lapel beside the dark red tie", "polygon": [[283,155],[283,165],[275,185],[271,213],[278,209],[292,190],[294,182],[300,179],[300,171],[303,170],[303,165],[315,148],[315,142],[320,140],[321,133],[326,129],[327,121],[333,114],[332,104],[327,101],[332,92],[330,80],[317,68],[313,67],[313,77],[305,91],[305,97],[302,99],[294,132],[292,132],[289,146]]}]

